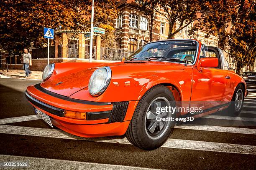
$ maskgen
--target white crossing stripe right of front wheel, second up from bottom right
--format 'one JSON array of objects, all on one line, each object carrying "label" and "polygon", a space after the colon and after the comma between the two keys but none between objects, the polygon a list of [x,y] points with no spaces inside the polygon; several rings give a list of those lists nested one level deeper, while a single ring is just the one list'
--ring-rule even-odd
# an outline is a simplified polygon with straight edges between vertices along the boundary
[{"label": "white crossing stripe right of front wheel, second up from bottom right", "polygon": [[190,124],[178,125],[178,126],[175,126],[174,128],[256,135],[256,129],[248,129],[248,128],[234,128],[234,127],[208,126],[208,125],[190,125]]}]

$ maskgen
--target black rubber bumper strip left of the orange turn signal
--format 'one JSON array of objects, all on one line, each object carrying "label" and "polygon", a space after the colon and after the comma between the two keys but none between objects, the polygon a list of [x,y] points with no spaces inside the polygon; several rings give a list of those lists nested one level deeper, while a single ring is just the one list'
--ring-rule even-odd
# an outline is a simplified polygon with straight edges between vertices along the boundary
[{"label": "black rubber bumper strip left of the orange turn signal", "polygon": [[25,91],[25,95],[28,101],[30,101],[33,105],[39,107],[40,109],[45,110],[46,112],[49,112],[53,115],[64,117],[64,109],[48,105],[44,102],[35,99],[34,97],[28,94],[27,90]]}]

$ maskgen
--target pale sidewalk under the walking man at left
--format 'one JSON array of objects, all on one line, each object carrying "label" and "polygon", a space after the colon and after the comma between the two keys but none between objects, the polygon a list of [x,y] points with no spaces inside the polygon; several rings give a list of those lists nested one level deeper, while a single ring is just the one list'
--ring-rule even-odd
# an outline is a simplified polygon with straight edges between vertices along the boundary
[{"label": "pale sidewalk under the walking man at left", "polygon": [[[16,78],[25,78],[25,71],[24,70],[16,70],[16,69],[9,69],[9,72],[6,70],[0,70],[0,74],[8,75]],[[32,74],[29,77],[26,77],[28,79],[42,79],[42,71],[32,71]]]}]

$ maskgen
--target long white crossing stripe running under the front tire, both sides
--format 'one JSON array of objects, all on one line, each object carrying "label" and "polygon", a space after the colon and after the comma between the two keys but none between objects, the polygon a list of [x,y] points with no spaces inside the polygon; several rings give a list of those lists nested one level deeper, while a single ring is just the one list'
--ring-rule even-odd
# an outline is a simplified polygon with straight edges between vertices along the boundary
[{"label": "long white crossing stripe running under the front tire, both sides", "polygon": [[[70,135],[61,130],[56,130],[56,129],[30,128],[30,127],[10,126],[10,125],[0,125],[0,133],[39,136],[39,137],[47,137],[47,138],[62,138],[62,139],[72,139],[72,140],[89,140],[89,141],[104,142],[104,143],[131,144],[126,138],[110,139],[110,140],[107,138],[96,138],[96,139],[82,138],[82,137]],[[164,143],[164,145],[161,147],[256,155],[256,146],[252,146],[252,145],[214,143],[214,142],[204,142],[204,141],[195,141],[195,140],[168,139],[166,143]]]}]

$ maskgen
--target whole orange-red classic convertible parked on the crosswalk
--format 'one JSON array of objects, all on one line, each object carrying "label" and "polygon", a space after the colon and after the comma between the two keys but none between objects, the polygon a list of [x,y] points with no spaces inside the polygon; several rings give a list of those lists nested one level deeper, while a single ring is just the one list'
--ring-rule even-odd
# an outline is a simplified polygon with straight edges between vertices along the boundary
[{"label": "whole orange-red classic convertible parked on the crosswalk", "polygon": [[[187,39],[149,42],[123,62],[50,64],[43,80],[25,94],[51,127],[90,138],[125,134],[145,150],[165,143],[171,118],[225,108],[237,115],[248,94],[218,47]],[[170,107],[186,110],[158,110]],[[202,110],[193,113],[196,107]]]}]

